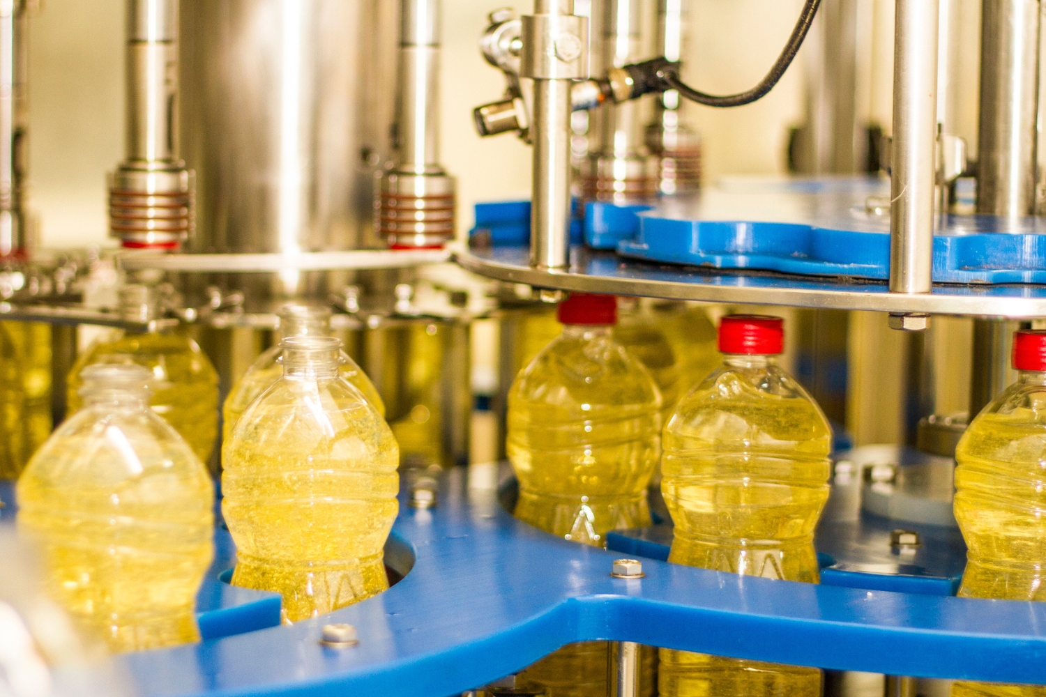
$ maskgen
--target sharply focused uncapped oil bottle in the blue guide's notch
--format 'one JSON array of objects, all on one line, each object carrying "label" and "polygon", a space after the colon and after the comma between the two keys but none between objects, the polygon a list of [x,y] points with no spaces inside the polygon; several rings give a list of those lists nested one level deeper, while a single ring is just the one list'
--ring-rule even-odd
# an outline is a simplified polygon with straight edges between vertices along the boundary
[{"label": "sharply focused uncapped oil bottle in the blue guide's notch", "polygon": [[233,585],[283,596],[295,622],[388,587],[400,452],[385,420],[339,375],[341,342],[285,339],[283,376],[222,446]]}]

